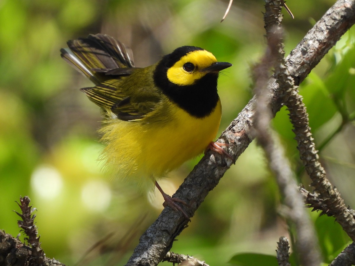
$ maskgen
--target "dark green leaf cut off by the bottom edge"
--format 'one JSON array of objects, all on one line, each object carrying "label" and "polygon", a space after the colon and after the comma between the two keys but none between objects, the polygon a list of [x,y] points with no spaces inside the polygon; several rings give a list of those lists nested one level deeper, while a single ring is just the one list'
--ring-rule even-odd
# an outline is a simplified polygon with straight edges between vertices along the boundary
[{"label": "dark green leaf cut off by the bottom edge", "polygon": [[273,255],[240,253],[233,256],[229,263],[236,266],[275,266],[277,259]]}]

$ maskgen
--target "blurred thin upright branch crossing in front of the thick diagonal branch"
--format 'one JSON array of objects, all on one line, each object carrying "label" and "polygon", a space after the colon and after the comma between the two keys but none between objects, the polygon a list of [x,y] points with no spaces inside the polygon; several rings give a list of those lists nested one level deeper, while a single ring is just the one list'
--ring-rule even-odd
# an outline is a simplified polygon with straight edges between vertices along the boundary
[{"label": "blurred thin upright branch crossing in front of the thick diagonal branch", "polygon": [[[267,1],[264,14],[266,39],[268,43],[267,52],[261,63],[255,68],[256,79],[256,114],[254,131],[258,143],[265,151],[269,166],[274,172],[276,181],[283,196],[284,205],[287,211],[284,215],[293,223],[296,231],[296,246],[299,260],[304,266],[320,265],[320,252],[317,246],[316,234],[310,217],[306,214],[302,197],[297,190],[294,174],[290,164],[284,155],[282,145],[275,134],[272,134],[269,123],[273,117],[269,108],[269,97],[271,93],[267,88],[269,70],[274,68],[274,76],[284,73],[284,50],[281,28],[281,1]],[[286,79],[287,84],[293,87],[293,81]]]}]

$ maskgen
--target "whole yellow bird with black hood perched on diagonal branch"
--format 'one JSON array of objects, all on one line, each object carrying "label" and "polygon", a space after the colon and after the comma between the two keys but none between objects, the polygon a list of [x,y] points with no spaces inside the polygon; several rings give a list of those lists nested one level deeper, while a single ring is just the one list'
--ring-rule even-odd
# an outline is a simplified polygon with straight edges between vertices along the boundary
[{"label": "whole yellow bird with black hood perched on diagonal branch", "polygon": [[[152,66],[133,65],[132,51],[113,37],[90,34],[67,42],[61,56],[94,87],[81,90],[105,114],[99,132],[108,171],[162,193],[165,203],[189,216],[165,194],[157,179],[206,148],[228,155],[213,142],[221,119],[218,73],[231,63],[211,52],[182,46]],[[185,204],[185,203],[184,203]]]}]

